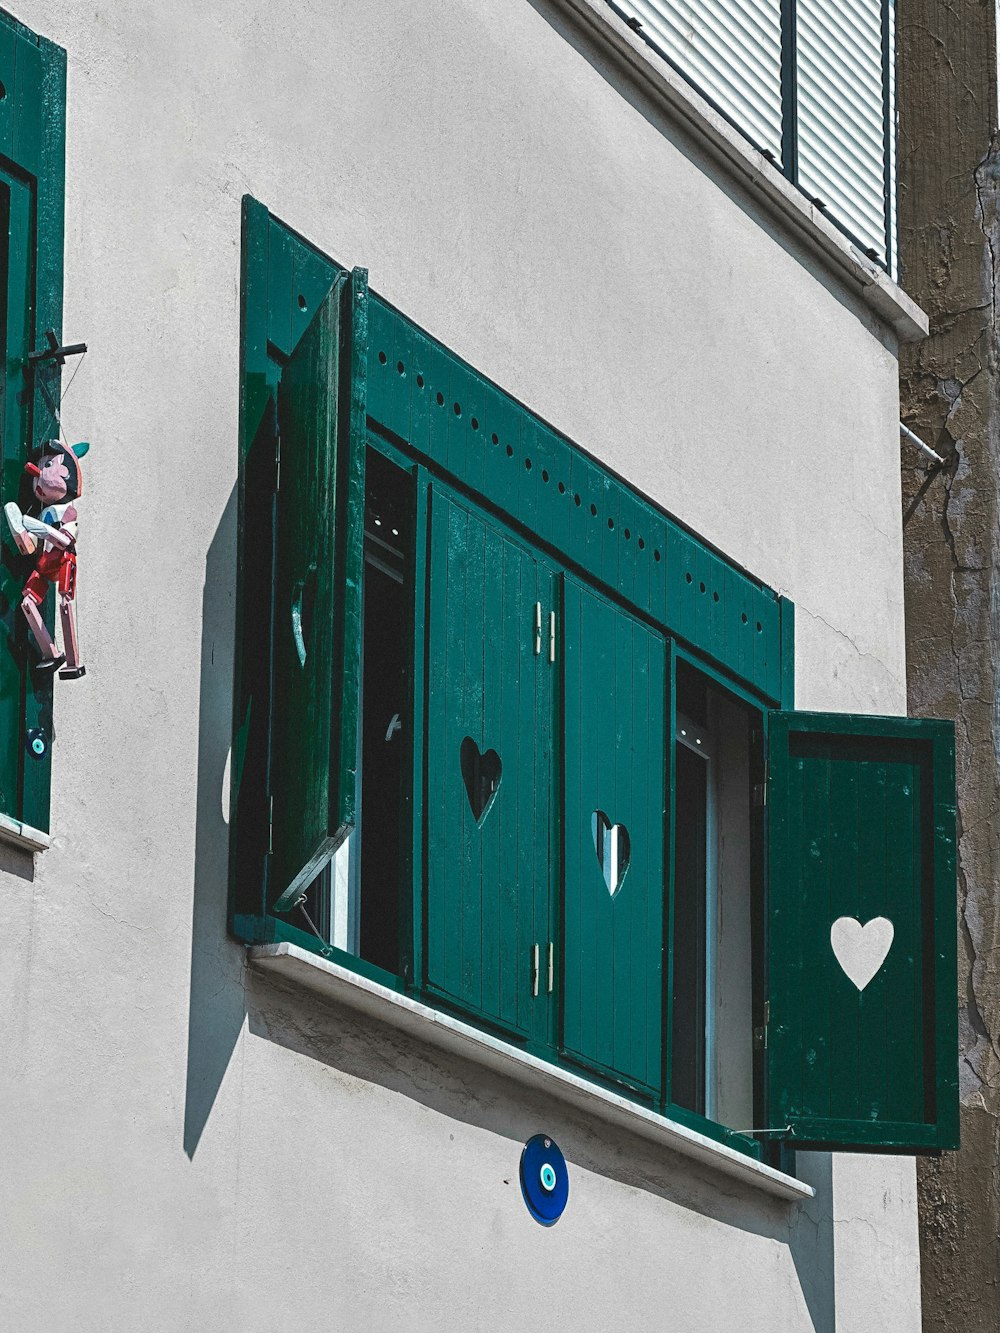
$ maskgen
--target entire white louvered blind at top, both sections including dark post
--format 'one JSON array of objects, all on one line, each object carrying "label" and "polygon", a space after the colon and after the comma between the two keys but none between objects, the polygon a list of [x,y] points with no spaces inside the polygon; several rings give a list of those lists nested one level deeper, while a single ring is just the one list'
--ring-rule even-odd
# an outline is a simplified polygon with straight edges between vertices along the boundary
[{"label": "entire white louvered blind at top, both sections including dark post", "polygon": [[609,4],[895,275],[893,0]]}]

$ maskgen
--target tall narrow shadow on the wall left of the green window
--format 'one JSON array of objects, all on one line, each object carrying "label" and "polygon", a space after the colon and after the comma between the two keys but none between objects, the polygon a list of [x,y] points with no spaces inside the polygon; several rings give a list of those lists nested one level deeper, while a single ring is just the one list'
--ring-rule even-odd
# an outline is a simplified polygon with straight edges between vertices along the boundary
[{"label": "tall narrow shadow on the wall left of the green window", "polygon": [[247,1016],[245,954],[227,934],[228,790],[236,581],[233,488],[205,557],[197,736],[195,892],[191,922],[184,1152],[201,1140]]}]

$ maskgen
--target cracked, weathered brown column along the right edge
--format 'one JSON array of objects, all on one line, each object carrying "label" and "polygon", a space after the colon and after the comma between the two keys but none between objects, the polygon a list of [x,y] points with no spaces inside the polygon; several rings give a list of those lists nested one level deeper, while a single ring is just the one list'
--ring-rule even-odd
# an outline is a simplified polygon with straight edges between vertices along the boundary
[{"label": "cracked, weathered brown column along the right edge", "polygon": [[[931,316],[901,357],[909,709],[959,764],[961,1152],[919,1165],[924,1328],[1000,1328],[1000,596],[996,7],[900,0],[903,285]],[[940,1004],[955,1002],[941,996]]]}]

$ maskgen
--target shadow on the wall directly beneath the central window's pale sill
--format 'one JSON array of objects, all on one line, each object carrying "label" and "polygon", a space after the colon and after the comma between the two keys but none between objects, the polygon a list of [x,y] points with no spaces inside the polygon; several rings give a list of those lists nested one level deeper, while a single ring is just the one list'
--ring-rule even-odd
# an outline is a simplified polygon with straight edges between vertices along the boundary
[{"label": "shadow on the wall directly beneath the central window's pale sill", "polygon": [[[247,972],[252,1036],[305,1056],[361,1084],[384,1088],[437,1114],[511,1142],[511,1161],[544,1129],[573,1168],[655,1194],[725,1226],[787,1245],[815,1333],[835,1333],[832,1173],[828,1153],[804,1153],[800,1172],[816,1189],[805,1205],[788,1206],[763,1190],[697,1166],[648,1140],[616,1130],[515,1078],[415,1044],[395,1029],[253,968]],[[293,1086],[291,1081],[288,1086]],[[361,1105],[360,1101],[356,1101]],[[351,1152],[377,1172],[379,1138],[359,1134]]]}]

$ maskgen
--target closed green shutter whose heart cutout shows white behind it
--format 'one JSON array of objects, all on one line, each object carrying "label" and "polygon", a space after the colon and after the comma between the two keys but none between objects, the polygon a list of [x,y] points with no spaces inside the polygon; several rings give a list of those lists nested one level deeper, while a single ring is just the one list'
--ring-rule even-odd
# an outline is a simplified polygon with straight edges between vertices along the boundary
[{"label": "closed green shutter whose heart cutout shows white behind it", "polygon": [[[657,1090],[665,644],[569,579],[563,639],[563,1049],[629,1084]],[[621,840],[628,838],[628,861],[617,882],[612,829],[617,829],[619,870]]]}]

